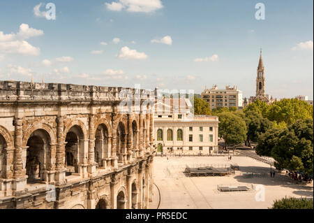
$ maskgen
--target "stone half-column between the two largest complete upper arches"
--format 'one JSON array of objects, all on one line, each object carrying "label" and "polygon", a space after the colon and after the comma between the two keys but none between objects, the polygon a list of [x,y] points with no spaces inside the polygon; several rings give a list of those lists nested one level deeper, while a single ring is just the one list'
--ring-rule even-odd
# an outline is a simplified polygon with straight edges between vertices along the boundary
[{"label": "stone half-column between the two largest complete upper arches", "polygon": [[56,174],[54,180],[56,185],[62,185],[66,182],[66,146],[65,136],[63,133],[64,119],[61,116],[57,117],[57,151],[56,151]]}]

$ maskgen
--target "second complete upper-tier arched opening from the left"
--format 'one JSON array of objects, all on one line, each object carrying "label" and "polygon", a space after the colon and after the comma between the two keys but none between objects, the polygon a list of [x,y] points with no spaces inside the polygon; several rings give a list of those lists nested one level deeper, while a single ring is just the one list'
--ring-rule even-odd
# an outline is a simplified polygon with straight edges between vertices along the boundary
[{"label": "second complete upper-tier arched opening from the left", "polygon": [[84,134],[82,129],[74,125],[66,134],[66,175],[78,173],[78,164],[83,161]]}]

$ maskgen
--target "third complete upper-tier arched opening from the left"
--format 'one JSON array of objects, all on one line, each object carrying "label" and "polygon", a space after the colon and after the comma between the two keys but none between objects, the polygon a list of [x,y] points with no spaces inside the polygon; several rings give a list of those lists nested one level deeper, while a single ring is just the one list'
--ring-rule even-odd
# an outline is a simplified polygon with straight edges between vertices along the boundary
[{"label": "third complete upper-tier arched opening from the left", "polygon": [[109,136],[105,124],[98,125],[95,134],[95,161],[99,166],[103,166],[103,159],[109,157]]}]

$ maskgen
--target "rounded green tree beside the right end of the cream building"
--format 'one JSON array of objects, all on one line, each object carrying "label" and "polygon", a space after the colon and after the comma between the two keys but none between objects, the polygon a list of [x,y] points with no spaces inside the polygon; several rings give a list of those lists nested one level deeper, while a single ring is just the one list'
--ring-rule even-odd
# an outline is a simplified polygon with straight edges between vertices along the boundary
[{"label": "rounded green tree beside the right end of the cream building", "polygon": [[241,117],[233,113],[219,113],[219,131],[218,134],[225,140],[227,145],[243,143],[246,140],[246,122]]}]

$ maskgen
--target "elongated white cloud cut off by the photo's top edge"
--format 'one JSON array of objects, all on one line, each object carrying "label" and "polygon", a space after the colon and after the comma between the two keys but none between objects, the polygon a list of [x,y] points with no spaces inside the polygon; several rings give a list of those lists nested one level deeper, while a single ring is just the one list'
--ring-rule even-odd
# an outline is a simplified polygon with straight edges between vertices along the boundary
[{"label": "elongated white cloud cut off by the photo's top edge", "polygon": [[108,10],[121,11],[126,9],[133,13],[151,13],[163,8],[160,0],[118,0],[105,3]]}]

